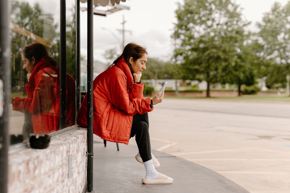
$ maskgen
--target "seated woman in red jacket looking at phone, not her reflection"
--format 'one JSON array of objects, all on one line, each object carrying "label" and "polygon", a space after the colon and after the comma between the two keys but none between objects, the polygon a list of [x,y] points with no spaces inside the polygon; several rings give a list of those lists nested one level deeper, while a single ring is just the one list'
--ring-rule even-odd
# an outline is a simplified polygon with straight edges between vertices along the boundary
[{"label": "seated woman in red jacket looking at phone, not her reflection", "polygon": [[[139,149],[137,161],[144,163],[145,184],[171,184],[173,179],[158,173],[160,163],[151,154],[148,112],[162,102],[164,91],[155,97],[144,98],[140,81],[146,69],[147,51],[129,43],[114,63],[93,82],[93,130],[106,141],[128,144],[135,136]],[[79,109],[77,124],[87,127],[87,95]],[[154,161],[154,163],[153,163]],[[155,166],[155,167],[154,167]]]}]

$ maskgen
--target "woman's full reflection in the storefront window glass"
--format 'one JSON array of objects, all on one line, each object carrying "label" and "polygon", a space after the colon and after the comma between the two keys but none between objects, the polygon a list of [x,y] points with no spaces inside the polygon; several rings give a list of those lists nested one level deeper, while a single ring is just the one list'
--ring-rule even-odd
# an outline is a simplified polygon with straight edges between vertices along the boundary
[{"label": "woman's full reflection in the storefront window glass", "polygon": [[[33,133],[47,134],[59,130],[59,67],[48,56],[40,43],[32,43],[22,50],[23,69],[27,70],[25,84],[27,98],[11,98],[12,109],[32,115]],[[75,124],[75,80],[66,76],[66,121],[67,126]],[[23,138],[31,133],[31,122],[23,125]]]}]

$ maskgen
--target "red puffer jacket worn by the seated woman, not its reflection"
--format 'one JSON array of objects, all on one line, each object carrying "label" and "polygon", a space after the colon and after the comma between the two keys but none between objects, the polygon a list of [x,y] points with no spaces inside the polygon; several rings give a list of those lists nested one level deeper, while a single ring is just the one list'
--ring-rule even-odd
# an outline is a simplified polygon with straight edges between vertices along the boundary
[{"label": "red puffer jacket worn by the seated woman, not its reflection", "polygon": [[[143,83],[134,83],[123,57],[99,74],[93,82],[93,130],[106,141],[128,144],[133,115],[148,113],[151,98],[144,98]],[[87,128],[87,95],[77,116],[77,124]]]}]

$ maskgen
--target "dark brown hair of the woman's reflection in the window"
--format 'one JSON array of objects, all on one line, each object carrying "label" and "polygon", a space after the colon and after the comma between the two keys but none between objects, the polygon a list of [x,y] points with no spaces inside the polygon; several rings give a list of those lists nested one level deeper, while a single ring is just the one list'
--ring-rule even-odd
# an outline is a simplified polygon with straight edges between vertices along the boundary
[{"label": "dark brown hair of the woman's reflection in the window", "polygon": [[32,61],[32,57],[35,59],[35,64],[37,64],[41,58],[48,57],[48,51],[44,45],[41,43],[33,42],[29,45],[26,45],[22,52],[23,56],[27,58],[30,62]]}]

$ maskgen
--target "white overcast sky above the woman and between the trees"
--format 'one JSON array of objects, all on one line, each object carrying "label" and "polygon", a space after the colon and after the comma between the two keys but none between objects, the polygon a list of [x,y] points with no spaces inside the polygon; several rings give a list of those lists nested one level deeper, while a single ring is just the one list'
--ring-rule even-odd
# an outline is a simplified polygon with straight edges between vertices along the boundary
[{"label": "white overcast sky above the woman and between the trees", "polygon": [[[183,2],[182,0],[178,0]],[[287,0],[276,0],[282,5]],[[126,0],[121,5],[129,6],[130,10],[120,10],[107,16],[94,15],[94,60],[107,62],[103,55],[107,49],[116,49],[121,54],[123,16],[125,23],[125,45],[135,42],[145,46],[149,57],[170,60],[173,46],[171,34],[173,23],[176,22],[175,10],[177,0]],[[269,12],[274,0],[236,0],[244,10],[242,13],[251,28],[261,21],[264,12]],[[81,7],[86,4],[81,3]],[[81,12],[81,54],[86,55],[86,17],[87,12]],[[104,29],[105,28],[105,29]]]}]

